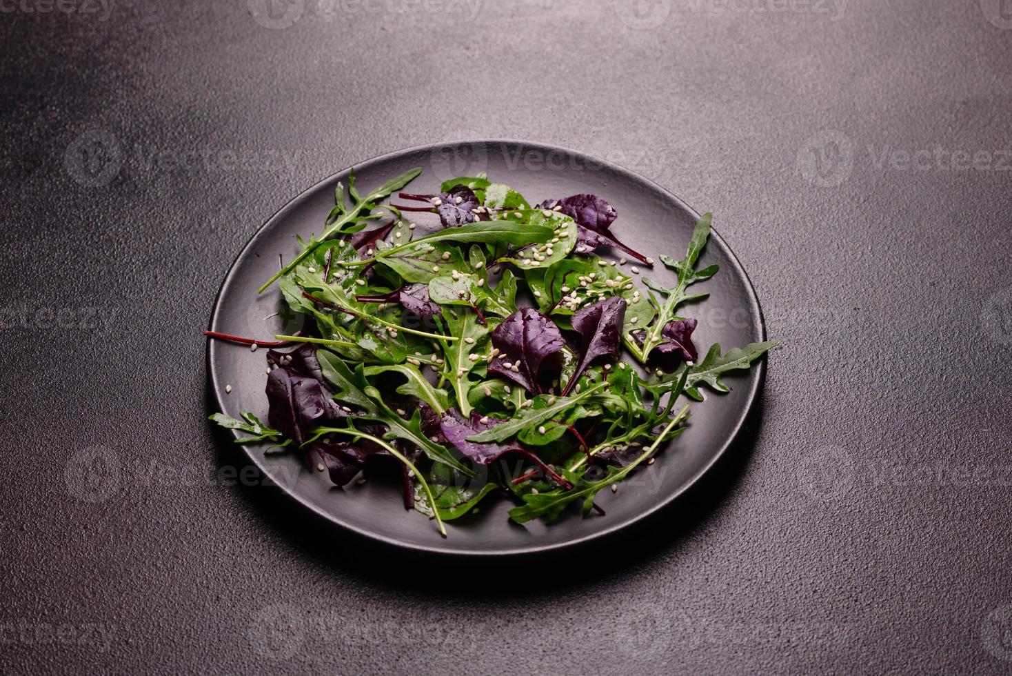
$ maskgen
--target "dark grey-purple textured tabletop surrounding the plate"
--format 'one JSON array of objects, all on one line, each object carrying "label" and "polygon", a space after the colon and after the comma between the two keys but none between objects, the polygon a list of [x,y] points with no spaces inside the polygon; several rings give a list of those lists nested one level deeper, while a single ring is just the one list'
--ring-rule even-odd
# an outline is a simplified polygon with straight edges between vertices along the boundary
[{"label": "dark grey-purple textured tabletop surrounding the plate", "polygon": [[[0,670],[1012,670],[1009,2],[24,2]],[[198,332],[257,227],[482,137],[713,210],[788,341],[751,443],[641,546],[419,571],[233,485],[204,421]]]}]

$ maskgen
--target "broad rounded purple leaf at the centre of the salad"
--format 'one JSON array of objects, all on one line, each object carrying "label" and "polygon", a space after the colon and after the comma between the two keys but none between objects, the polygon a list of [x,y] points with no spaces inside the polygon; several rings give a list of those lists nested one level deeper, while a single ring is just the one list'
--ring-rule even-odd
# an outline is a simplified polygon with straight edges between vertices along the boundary
[{"label": "broad rounded purple leaf at the centre of the salad", "polygon": [[533,308],[521,308],[492,332],[492,346],[499,349],[499,355],[489,364],[489,372],[499,373],[528,392],[540,394],[537,376],[541,362],[565,344],[555,322]]}]

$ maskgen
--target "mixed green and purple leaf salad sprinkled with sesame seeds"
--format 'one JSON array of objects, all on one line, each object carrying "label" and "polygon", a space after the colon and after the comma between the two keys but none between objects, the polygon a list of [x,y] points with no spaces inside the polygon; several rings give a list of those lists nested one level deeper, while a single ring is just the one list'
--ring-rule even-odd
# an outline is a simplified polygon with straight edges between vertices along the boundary
[{"label": "mixed green and purple leaf salad sprinkled with sesame seeds", "polygon": [[728,392],[725,373],[778,344],[723,354],[714,344],[698,361],[696,320],[679,312],[706,297],[690,287],[718,271],[696,267],[709,214],[684,258],[660,257],[675,285],[645,278],[643,289],[625,258],[596,254],[611,247],[654,264],[616,239],[604,199],[532,207],[479,175],[447,180],[439,194],[400,192],[411,205],[382,203],[420,173],[361,195],[352,172],[320,239],[300,239],[302,252],[260,287],[276,281],[313,330],[259,342],[296,344],[267,351],[267,424],[248,412],[212,416],[247,432],[240,443],[298,448],[344,487],[392,458],[406,507],[443,536],[443,521],[494,491],[515,496],[509,515],[520,523],[552,522],[572,503],[603,514],[596,494],[685,429],[679,397]]}]

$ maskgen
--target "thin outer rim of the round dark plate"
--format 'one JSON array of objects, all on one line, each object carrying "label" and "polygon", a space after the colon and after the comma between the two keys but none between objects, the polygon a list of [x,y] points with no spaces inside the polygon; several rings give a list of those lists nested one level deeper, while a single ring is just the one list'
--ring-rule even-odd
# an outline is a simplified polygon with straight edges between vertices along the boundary
[{"label": "thin outer rim of the round dark plate", "polygon": [[[345,167],[344,169],[341,169],[340,171],[334,172],[318,180],[313,185],[304,189],[302,192],[300,192],[291,199],[286,201],[280,208],[278,208],[273,215],[271,215],[270,218],[264,221],[263,225],[261,225],[256,230],[255,233],[253,233],[253,235],[249,238],[249,240],[247,240],[246,244],[239,250],[239,253],[235,256],[235,258],[233,258],[232,263],[230,263],[229,270],[225,274],[225,277],[222,280],[222,284],[218,289],[218,293],[215,295],[215,301],[212,304],[212,312],[210,312],[210,317],[207,321],[207,329],[212,331],[217,330],[215,328],[215,322],[220,315],[220,311],[223,304],[223,297],[225,295],[226,289],[230,288],[232,283],[234,283],[234,276],[236,275],[236,269],[239,261],[242,260],[247,255],[247,252],[249,252],[254,247],[254,245],[260,239],[261,236],[267,233],[269,229],[271,229],[276,224],[276,222],[282,220],[282,217],[286,215],[287,212],[294,208],[304,199],[310,198],[311,195],[314,195],[325,184],[336,180],[339,176],[342,176],[343,174],[347,173],[350,169],[360,169],[369,167],[371,165],[381,164],[396,159],[408,153],[418,153],[424,151],[432,152],[440,148],[462,146],[469,144],[470,145],[484,144],[487,146],[514,145],[514,146],[520,146],[522,148],[531,148],[547,152],[562,152],[564,154],[567,154],[571,157],[574,157],[582,161],[594,162],[602,167],[607,167],[611,171],[616,171],[618,173],[625,174],[626,177],[634,178],[637,181],[647,183],[654,189],[659,190],[668,197],[674,199],[679,204],[679,206],[684,208],[688,214],[692,215],[692,217],[694,217],[696,222],[698,222],[698,220],[700,219],[699,213],[696,212],[693,207],[691,207],[688,203],[686,203],[685,200],[683,200],[681,197],[679,197],[678,195],[676,195],[674,192],[667,189],[663,185],[660,185],[656,181],[648,178],[647,176],[644,176],[643,174],[640,174],[615,162],[604,160],[603,158],[598,158],[588,153],[566,148],[564,146],[557,146],[540,142],[521,141],[516,139],[480,139],[480,140],[445,141],[439,143],[428,143],[418,146],[401,148],[399,150],[391,151],[389,153],[384,153],[383,155],[377,155],[375,157],[372,157],[368,160],[364,160],[357,164],[350,165],[348,167]],[[745,267],[738,259],[738,256],[735,254],[734,250],[728,245],[728,243],[725,241],[725,239],[721,236],[721,234],[718,232],[715,228],[710,230],[710,238],[712,242],[718,243],[720,248],[732,262],[733,266],[737,269],[737,271],[741,274],[742,278],[745,280],[746,288],[749,291],[748,297],[749,297],[750,310],[752,311],[752,313],[754,313],[754,316],[758,319],[759,338],[760,338],[759,342],[766,341],[767,339],[766,320],[765,317],[763,316],[762,306],[759,304],[759,297],[756,293],[755,285],[752,283],[751,277],[749,277],[748,272],[745,270]],[[223,389],[218,381],[218,377],[216,377],[215,369],[212,367],[213,352],[215,351],[218,342],[219,341],[209,338],[206,339],[206,345],[204,348],[205,351],[204,366],[207,370],[207,378],[212,385],[212,393],[210,393],[212,398],[215,404],[218,405],[218,412],[222,412],[225,411],[225,399],[222,395]],[[400,540],[395,537],[383,535],[372,530],[359,527],[352,522],[341,520],[338,516],[335,516],[332,513],[325,512],[324,510],[318,508],[316,505],[304,499],[302,496],[289,490],[287,487],[277,482],[274,483],[275,485],[278,486],[278,488],[280,488],[281,494],[283,494],[287,499],[294,501],[303,508],[311,510],[314,514],[324,519],[328,523],[346,529],[360,537],[364,537],[367,540],[371,540],[373,542],[377,542],[383,545],[390,545],[401,550],[407,550],[415,554],[428,555],[428,556],[441,556],[456,560],[505,559],[505,558],[525,557],[533,555],[557,554],[562,551],[585,546],[588,543],[595,540],[602,540],[614,537],[620,531],[629,529],[637,525],[642,525],[645,521],[656,516],[658,512],[664,510],[665,508],[676,502],[683,495],[688,493],[692,488],[694,488],[703,479],[703,477],[708,475],[713,470],[713,468],[725,457],[725,455],[727,455],[728,451],[731,449],[732,446],[735,445],[735,443],[741,436],[742,430],[745,427],[745,424],[749,416],[755,409],[756,400],[758,399],[760,390],[763,386],[763,383],[765,382],[766,355],[761,356],[757,360],[756,366],[753,367],[752,372],[755,373],[755,377],[750,378],[748,386],[749,389],[747,393],[747,403],[745,405],[744,411],[740,419],[738,420],[734,430],[728,436],[724,444],[718,449],[716,452],[714,452],[709,457],[709,459],[703,467],[701,467],[686,482],[684,482],[678,490],[673,491],[672,493],[664,496],[662,499],[658,500],[650,507],[644,509],[643,511],[638,512],[635,516],[626,518],[624,521],[618,521],[615,523],[607,524],[603,526],[600,530],[596,530],[592,533],[588,533],[576,539],[566,540],[563,542],[545,542],[540,544],[531,544],[528,546],[515,547],[511,550],[491,550],[491,551],[490,550],[460,551],[460,550],[446,548],[444,546],[439,546],[438,544],[429,545],[429,544],[418,544],[415,542],[406,542],[404,540]],[[233,438],[240,437],[238,431],[236,430],[229,430],[229,433]],[[253,452],[252,448],[247,447],[245,444],[241,444],[240,447],[243,453],[246,455],[246,457],[249,458],[249,460],[259,470],[259,472],[263,476],[267,478],[272,477],[272,473],[270,472],[270,470],[267,467],[265,467],[263,462],[260,461],[259,457]],[[442,541],[441,538],[440,541]]]}]

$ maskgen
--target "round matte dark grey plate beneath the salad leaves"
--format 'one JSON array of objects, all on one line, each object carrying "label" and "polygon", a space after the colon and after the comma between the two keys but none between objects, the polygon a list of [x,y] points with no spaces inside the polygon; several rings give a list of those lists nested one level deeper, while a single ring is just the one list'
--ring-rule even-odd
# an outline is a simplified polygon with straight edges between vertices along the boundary
[{"label": "round matte dark grey plate beneath the salad leaves", "polygon": [[[601,195],[618,212],[612,229],[634,249],[657,258],[684,255],[698,215],[678,197],[651,181],[594,158],[539,144],[511,141],[461,142],[404,150],[355,166],[359,190],[378,185],[411,167],[423,167],[409,186],[412,192],[435,192],[439,183],[460,175],[487,171],[489,177],[519,190],[531,203],[578,192]],[[280,292],[257,287],[285,260],[298,253],[294,236],[320,233],[334,203],[334,187],[347,182],[348,172],[331,176],[296,197],[253,237],[229,271],[215,304],[210,328],[226,333],[267,338],[301,328],[271,317]],[[402,200],[403,201],[403,200]],[[715,222],[720,225],[720,215]],[[603,253],[603,252],[602,252]],[[720,263],[721,271],[704,282],[710,297],[694,308],[699,326],[694,334],[700,352],[720,342],[725,349],[765,340],[755,291],[731,249],[715,232],[700,266]],[[645,268],[646,269],[646,268]],[[658,264],[647,276],[666,286],[674,274]],[[267,418],[264,395],[264,350],[209,341],[208,370],[220,410],[236,416],[252,411]],[[689,428],[661,453],[655,464],[623,482],[617,493],[602,491],[597,502],[605,516],[580,516],[569,510],[551,526],[541,521],[524,525],[506,516],[513,502],[489,496],[478,514],[446,524],[448,538],[434,523],[405,511],[397,482],[367,482],[350,490],[334,488],[324,475],[310,471],[296,453],[265,453],[262,446],[246,448],[250,459],[272,481],[306,507],[334,523],[376,540],[411,550],[461,556],[511,556],[560,550],[614,533],[650,516],[699,480],[729,448],[741,429],[762,381],[762,362],[742,375],[726,377],[733,391],[707,394],[692,406]],[[226,394],[226,385],[232,386]],[[294,505],[292,506],[294,508]]]}]

